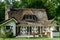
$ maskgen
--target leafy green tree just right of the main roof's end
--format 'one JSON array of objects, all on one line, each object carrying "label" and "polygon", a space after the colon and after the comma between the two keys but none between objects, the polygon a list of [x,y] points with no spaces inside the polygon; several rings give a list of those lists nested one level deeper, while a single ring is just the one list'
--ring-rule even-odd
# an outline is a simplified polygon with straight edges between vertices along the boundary
[{"label": "leafy green tree just right of the main roof's end", "polygon": [[52,2],[45,4],[48,19],[53,19],[56,16],[56,8]]}]

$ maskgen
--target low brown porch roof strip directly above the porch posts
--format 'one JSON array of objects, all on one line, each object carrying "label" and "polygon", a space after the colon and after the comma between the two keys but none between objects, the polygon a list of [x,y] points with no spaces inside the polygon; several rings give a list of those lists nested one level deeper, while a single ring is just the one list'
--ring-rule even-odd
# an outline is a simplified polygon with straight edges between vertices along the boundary
[{"label": "low brown porch roof strip directly above the porch posts", "polygon": [[32,27],[35,27],[35,26],[43,26],[43,27],[50,27],[51,26],[51,24],[41,24],[41,23],[31,23],[31,22],[25,22],[25,21],[23,21],[23,22],[21,22],[20,24],[18,24],[17,25],[17,27],[20,27],[20,26],[32,26]]}]

